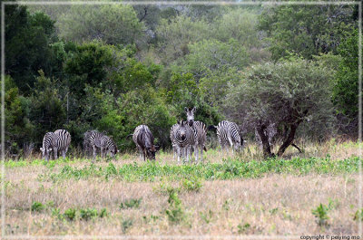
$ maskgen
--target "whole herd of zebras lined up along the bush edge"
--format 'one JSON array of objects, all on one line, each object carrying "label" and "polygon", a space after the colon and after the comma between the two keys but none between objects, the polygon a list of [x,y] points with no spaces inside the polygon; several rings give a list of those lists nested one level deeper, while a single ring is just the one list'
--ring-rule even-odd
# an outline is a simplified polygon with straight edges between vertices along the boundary
[{"label": "whole herd of zebras lined up along the bush edge", "polygon": [[[205,144],[207,139],[206,125],[198,120],[194,120],[194,108],[185,108],[187,120],[180,120],[178,123],[172,125],[170,131],[170,138],[172,141],[173,158],[178,156],[178,163],[180,158],[184,161],[191,159],[191,154],[194,152],[195,162],[203,160],[203,150],[207,151]],[[242,147],[243,139],[240,137],[240,130],[236,123],[222,120],[217,126],[210,126],[208,130],[217,130],[217,137],[221,144],[221,149],[231,147],[232,152]],[[140,158],[155,159],[155,153],[160,149],[153,143],[152,131],[146,125],[140,125],[135,128],[132,140],[137,149],[140,151]],[[54,159],[58,158],[58,151],[62,152],[63,158],[71,144],[71,134],[67,130],[55,130],[54,132],[47,132],[44,135],[43,147],[41,151],[43,158],[49,161],[52,152],[54,152]],[[93,153],[93,158],[96,157],[97,149],[101,151],[101,157],[106,157],[107,154],[114,157],[119,150],[113,139],[108,137],[102,132],[96,130],[89,130],[83,134],[83,149],[90,155]]]}]

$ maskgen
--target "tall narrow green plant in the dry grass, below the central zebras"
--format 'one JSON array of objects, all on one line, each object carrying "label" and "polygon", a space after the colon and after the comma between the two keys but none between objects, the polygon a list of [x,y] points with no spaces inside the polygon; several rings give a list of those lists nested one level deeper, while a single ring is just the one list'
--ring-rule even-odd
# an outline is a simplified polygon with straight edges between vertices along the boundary
[{"label": "tall narrow green plant in the dry grass, below the central zebras", "polygon": [[184,216],[182,211],[182,201],[178,197],[177,190],[174,188],[168,188],[168,193],[169,208],[165,210],[165,213],[168,216],[169,221],[173,224],[179,224]]}]

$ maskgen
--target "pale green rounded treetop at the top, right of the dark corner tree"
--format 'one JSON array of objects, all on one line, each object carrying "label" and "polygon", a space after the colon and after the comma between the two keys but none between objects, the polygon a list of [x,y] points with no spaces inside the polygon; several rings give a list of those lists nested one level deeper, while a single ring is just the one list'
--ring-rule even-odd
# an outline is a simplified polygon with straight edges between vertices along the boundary
[{"label": "pale green rounded treetop at the top, right of the dark corner tree", "polygon": [[96,39],[126,45],[138,43],[144,35],[131,5],[72,5],[56,26],[60,37],[75,43]]}]

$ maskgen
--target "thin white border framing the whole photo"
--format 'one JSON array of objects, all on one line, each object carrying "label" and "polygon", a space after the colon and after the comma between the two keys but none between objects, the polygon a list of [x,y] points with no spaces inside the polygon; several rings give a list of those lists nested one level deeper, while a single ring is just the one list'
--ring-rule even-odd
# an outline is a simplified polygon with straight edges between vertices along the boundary
[{"label": "thin white border framing the whole photo", "polygon": [[[16,1],[1,3],[1,237],[2,239],[299,239],[299,235],[5,235],[5,6],[6,5],[358,5],[358,141],[362,141],[362,2],[361,1]],[[359,144],[358,209],[362,209],[362,145]],[[362,235],[358,224],[358,235]]]}]

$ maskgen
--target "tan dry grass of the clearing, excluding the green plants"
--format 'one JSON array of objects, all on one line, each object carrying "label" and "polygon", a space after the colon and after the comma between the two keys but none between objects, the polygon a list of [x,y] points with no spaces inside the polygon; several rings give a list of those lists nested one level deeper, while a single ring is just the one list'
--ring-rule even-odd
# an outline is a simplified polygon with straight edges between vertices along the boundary
[{"label": "tan dry grass of the clearing, excluding the green plants", "polygon": [[[289,149],[287,158],[311,156],[340,159],[358,156],[358,144],[330,141],[322,145],[304,145],[304,153]],[[260,150],[249,145],[240,158],[259,158]],[[206,153],[206,161],[221,162],[231,155],[216,150]],[[136,155],[123,155],[113,160],[115,166],[139,161]],[[162,164],[176,164],[172,154],[158,156]],[[75,161],[72,167],[89,165]],[[108,162],[97,162],[106,166]],[[150,164],[150,163],[145,163]],[[59,171],[63,164],[52,170]],[[111,178],[40,181],[38,176],[49,167],[25,166],[6,168],[5,233],[6,235],[354,235],[358,222],[358,173],[329,176],[309,174],[269,174],[263,178],[214,180],[202,182],[200,191],[186,191],[182,181],[127,183]],[[165,210],[170,207],[164,186],[181,187],[182,221],[173,224]],[[121,209],[128,199],[142,198],[138,208]],[[44,211],[32,212],[37,201],[47,204]],[[53,203],[52,203],[53,202]],[[329,206],[328,226],[318,226],[313,208]],[[105,217],[88,221],[69,221],[52,214],[68,208],[107,208]],[[95,238],[97,239],[97,238]]]}]

